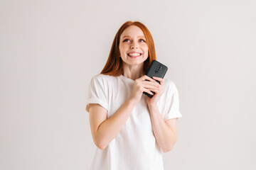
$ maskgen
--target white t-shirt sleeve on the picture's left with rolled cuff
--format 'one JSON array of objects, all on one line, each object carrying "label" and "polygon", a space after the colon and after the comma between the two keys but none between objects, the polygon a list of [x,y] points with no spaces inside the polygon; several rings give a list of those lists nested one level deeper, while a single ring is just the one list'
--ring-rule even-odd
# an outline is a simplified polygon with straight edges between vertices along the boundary
[{"label": "white t-shirt sleeve on the picture's left with rolled cuff", "polygon": [[89,112],[88,105],[90,103],[100,104],[100,106],[108,110],[107,90],[105,89],[105,84],[102,77],[92,77],[85,103],[85,111],[87,112]]}]

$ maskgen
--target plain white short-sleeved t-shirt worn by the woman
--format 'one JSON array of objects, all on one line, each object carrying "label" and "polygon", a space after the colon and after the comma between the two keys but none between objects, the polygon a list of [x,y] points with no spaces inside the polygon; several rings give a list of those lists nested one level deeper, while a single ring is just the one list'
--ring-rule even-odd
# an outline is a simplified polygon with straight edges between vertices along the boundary
[{"label": "plain white short-sleeved t-shirt worn by the woman", "polygon": [[[127,101],[134,86],[134,80],[97,74],[92,77],[87,104],[98,103],[107,109],[110,118]],[[173,81],[164,80],[164,94],[157,105],[164,120],[182,117],[179,111],[178,91]],[[153,134],[146,98],[134,107],[131,115],[105,149],[96,149],[90,169],[92,170],[161,170],[164,169],[161,148]]]}]

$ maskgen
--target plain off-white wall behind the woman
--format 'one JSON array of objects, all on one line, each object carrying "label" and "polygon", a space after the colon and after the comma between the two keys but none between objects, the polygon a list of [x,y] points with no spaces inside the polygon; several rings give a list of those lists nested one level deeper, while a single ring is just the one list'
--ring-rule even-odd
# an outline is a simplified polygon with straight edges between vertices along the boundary
[{"label": "plain off-white wall behind the woman", "polygon": [[149,28],[180,97],[165,169],[256,169],[256,3],[0,1],[0,169],[89,169],[85,99],[125,21]]}]

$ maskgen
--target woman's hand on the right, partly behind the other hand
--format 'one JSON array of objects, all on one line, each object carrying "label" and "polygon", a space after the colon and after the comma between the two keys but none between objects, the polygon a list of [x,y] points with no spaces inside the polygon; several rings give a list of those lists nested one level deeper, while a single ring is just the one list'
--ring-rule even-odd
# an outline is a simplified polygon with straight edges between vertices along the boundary
[{"label": "woman's hand on the right, partly behind the other hand", "polygon": [[151,106],[156,106],[157,102],[161,98],[161,95],[164,94],[164,79],[161,79],[159,77],[152,77],[152,79],[160,81],[160,86],[158,89],[149,89],[150,91],[154,91],[154,96],[153,97],[147,97],[146,98],[146,103],[148,104],[149,107]]}]

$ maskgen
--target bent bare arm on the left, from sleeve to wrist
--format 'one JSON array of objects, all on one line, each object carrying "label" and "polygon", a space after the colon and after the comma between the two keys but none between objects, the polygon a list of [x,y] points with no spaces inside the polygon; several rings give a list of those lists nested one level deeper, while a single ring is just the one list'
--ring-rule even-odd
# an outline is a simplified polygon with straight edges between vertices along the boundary
[{"label": "bent bare arm on the left, from sleeve to wrist", "polygon": [[128,99],[111,118],[107,119],[107,110],[99,104],[90,104],[90,128],[95,145],[105,149],[117,136],[129,118],[136,103]]}]

